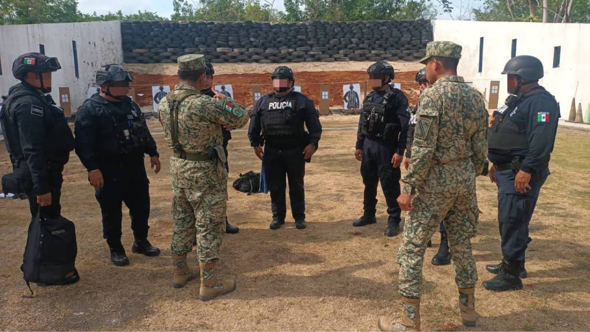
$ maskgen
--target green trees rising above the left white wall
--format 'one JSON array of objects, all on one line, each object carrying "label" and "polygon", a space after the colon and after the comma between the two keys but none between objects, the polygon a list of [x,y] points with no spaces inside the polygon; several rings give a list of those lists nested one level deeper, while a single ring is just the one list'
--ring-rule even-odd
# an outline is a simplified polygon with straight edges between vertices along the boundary
[{"label": "green trees rising above the left white wall", "polygon": [[154,12],[137,11],[123,15],[121,11],[106,15],[83,14],[77,0],[0,0],[0,24],[67,23],[114,20],[160,21],[166,19]]}]

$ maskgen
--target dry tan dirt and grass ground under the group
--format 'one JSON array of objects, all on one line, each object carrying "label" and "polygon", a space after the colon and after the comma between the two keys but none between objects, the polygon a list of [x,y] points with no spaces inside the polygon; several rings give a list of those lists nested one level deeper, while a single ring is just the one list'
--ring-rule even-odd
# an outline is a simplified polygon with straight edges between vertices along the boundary
[{"label": "dry tan dirt and grass ground under the group", "polygon": [[[230,141],[228,218],[241,227],[224,237],[218,276],[237,279],[238,288],[214,301],[198,300],[199,282],[171,287],[170,149],[158,122],[152,132],[162,155],[162,172],[149,172],[152,213],[150,240],[162,249],[156,258],[131,253],[130,221],[124,216],[123,243],[131,264],[113,266],[101,238],[100,209],[76,155],[65,167],[63,215],[77,227],[77,268],[81,280],[65,287],[33,287],[19,266],[30,216],[25,201],[0,200],[0,330],[363,330],[377,329],[380,315],[398,315],[400,236],[384,237],[386,209],[379,191],[378,223],[353,228],[362,213],[362,180],[354,159],[353,116],[322,118],[320,149],[307,164],[305,230],[287,217],[280,230],[268,229],[270,197],[247,196],[231,187],[238,173],[259,170],[244,131]],[[481,287],[491,278],[484,266],[501,256],[495,185],[478,178],[480,227],[473,239],[479,281],[478,331],[590,330],[590,134],[560,128],[551,170],[530,230],[529,278],[522,291],[494,293]],[[0,172],[9,171],[0,149]],[[124,209],[124,214],[127,211]],[[355,232],[360,234],[355,235]],[[432,266],[428,249],[421,302],[423,330],[464,331],[453,311],[457,288],[452,266]],[[194,253],[189,264],[196,265]]]}]

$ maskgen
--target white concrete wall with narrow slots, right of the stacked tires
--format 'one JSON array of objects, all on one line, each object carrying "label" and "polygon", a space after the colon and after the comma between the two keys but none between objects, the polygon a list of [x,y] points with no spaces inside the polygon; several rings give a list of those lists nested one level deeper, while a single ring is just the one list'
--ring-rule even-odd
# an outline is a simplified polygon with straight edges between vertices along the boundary
[{"label": "white concrete wall with narrow slots, right of the stacked tires", "polygon": [[[512,40],[517,40],[516,55],[539,58],[545,69],[540,84],[545,86],[560,103],[562,119],[569,116],[572,97],[576,92],[576,105],[582,103],[585,111],[590,103],[590,25],[543,24],[528,22],[432,22],[434,40],[450,40],[463,46],[459,74],[473,81],[474,87],[490,93],[490,81],[500,81],[499,106],[508,96],[506,75],[500,74],[510,60]],[[584,38],[586,36],[586,38]],[[483,69],[478,72],[480,37],[484,37]],[[553,48],[561,47],[560,65],[553,68]]]}]

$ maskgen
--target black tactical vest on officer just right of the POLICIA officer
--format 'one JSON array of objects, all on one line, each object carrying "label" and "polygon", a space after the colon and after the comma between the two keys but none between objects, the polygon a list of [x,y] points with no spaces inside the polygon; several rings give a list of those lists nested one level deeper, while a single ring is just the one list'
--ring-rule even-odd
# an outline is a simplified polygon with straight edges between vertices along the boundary
[{"label": "black tactical vest on officer just right of the POLICIA officer", "polygon": [[394,112],[391,99],[395,96],[395,90],[387,90],[383,95],[383,101],[373,102],[375,92],[367,96],[360,112],[360,132],[369,137],[383,138],[385,141],[395,143],[398,140],[401,124]]}]

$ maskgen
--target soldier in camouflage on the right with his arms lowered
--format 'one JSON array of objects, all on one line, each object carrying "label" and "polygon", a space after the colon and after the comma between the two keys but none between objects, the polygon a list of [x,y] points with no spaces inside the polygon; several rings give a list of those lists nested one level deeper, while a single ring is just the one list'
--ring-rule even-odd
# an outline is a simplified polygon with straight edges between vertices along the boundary
[{"label": "soldier in camouflage on the right with his arms lowered", "polygon": [[466,326],[476,324],[477,270],[470,239],[477,230],[476,174],[486,160],[488,116],[481,95],[457,76],[460,57],[460,45],[434,41],[421,61],[433,85],[420,96],[412,162],[398,198],[402,210],[409,211],[397,257],[402,315],[398,320],[379,318],[382,331],[420,329],[424,252],[442,220],[455,265],[461,318]]}]

